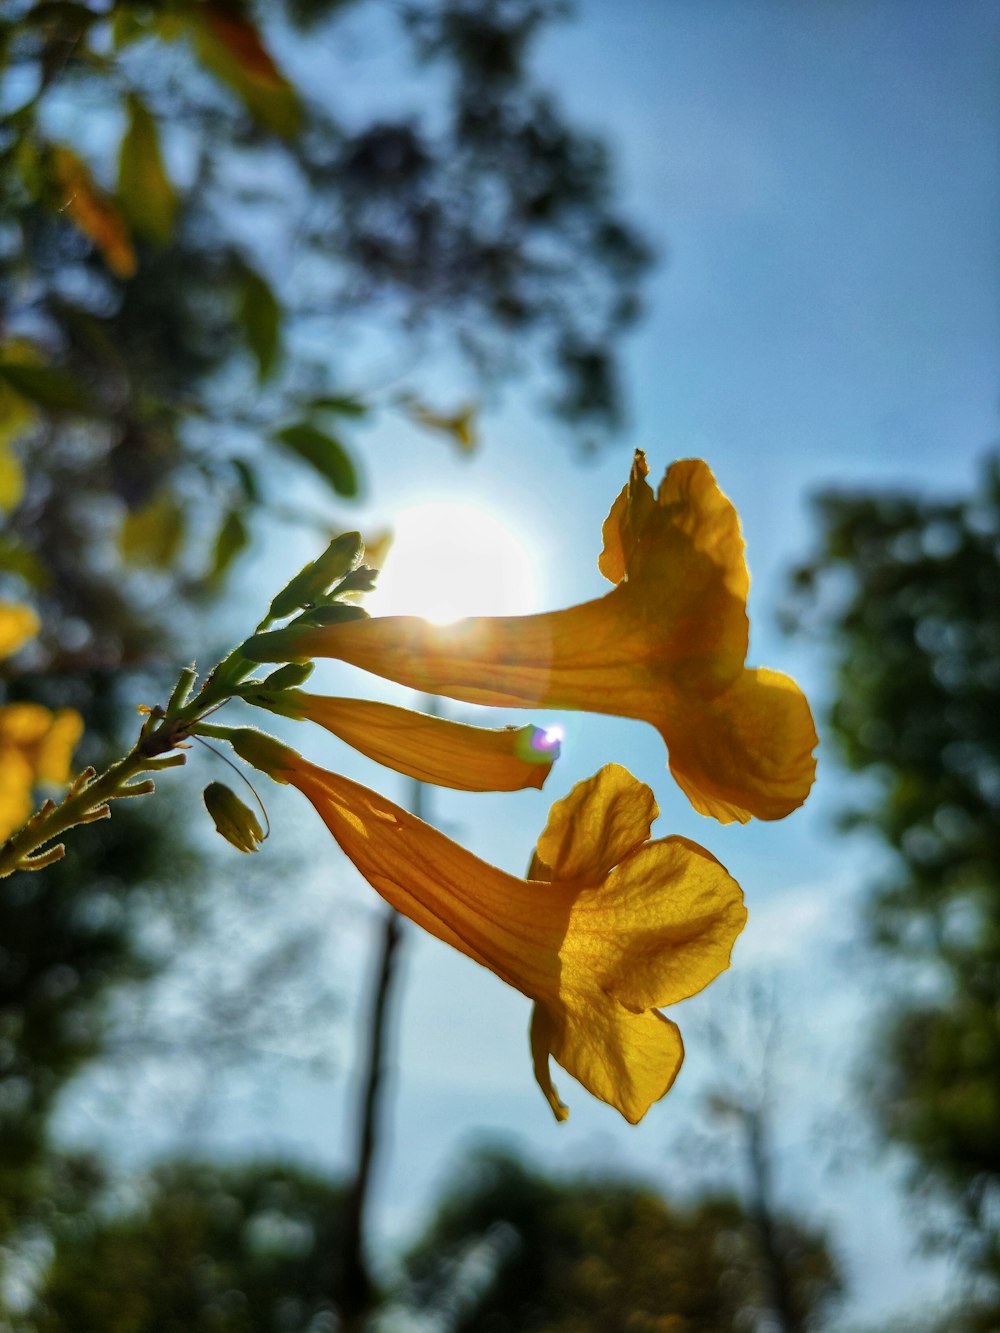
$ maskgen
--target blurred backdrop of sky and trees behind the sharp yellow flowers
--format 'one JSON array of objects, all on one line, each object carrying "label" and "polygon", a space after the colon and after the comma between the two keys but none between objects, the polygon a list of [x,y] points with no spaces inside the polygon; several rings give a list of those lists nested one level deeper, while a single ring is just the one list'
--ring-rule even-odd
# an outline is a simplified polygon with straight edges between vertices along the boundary
[{"label": "blurred backdrop of sky and trees behind the sharp yellow flowers", "polygon": [[633,448],[713,468],[821,734],[779,824],[589,716],[532,718],[545,793],[419,797],[523,873],[615,760],[741,882],[637,1128],[568,1076],[555,1124],[523,997],[408,928],[365,1118],[383,906],[283,790],[216,838],[208,753],[5,880],[0,1329],[1000,1329],[993,0],[8,0],[0,61],[0,596],[43,624],[0,665],[81,764],[344,529],[411,603],[600,595]]}]

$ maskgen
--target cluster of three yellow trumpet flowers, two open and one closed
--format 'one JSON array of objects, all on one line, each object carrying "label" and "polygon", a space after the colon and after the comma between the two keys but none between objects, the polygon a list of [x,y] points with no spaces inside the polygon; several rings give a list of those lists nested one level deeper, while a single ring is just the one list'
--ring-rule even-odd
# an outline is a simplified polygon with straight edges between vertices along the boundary
[{"label": "cluster of three yellow trumpet flowers, two open and one closed", "polygon": [[[472,704],[641,718],[661,733],[695,809],[721,822],[781,818],[809,792],[816,732],[795,681],[745,665],[749,577],[736,511],[704,463],[673,464],[656,493],[647,472],[637,453],[604,524],[599,567],[615,585],[604,597],[447,628],[285,600],[284,615],[300,613],[261,627],[240,653],[287,665],[241,686],[243,697],[312,720],[399,772],[467,790],[540,786],[555,757],[544,733],[309,694],[281,672],[336,657]],[[307,571],[297,577],[309,581]],[[669,1089],[683,1044],[657,1006],[728,966],[745,910],[704,848],[651,841],[652,792],[625,769],[608,765],[556,802],[519,880],[261,732],[207,729],[301,790],[392,906],[533,1001],[535,1074],[557,1118],[567,1110],[549,1056],[629,1121]]]}]

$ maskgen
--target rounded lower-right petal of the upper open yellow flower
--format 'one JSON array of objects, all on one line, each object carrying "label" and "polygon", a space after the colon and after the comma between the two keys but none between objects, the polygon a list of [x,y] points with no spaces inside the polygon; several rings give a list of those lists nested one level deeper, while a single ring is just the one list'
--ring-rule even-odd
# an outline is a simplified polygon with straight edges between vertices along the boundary
[{"label": "rounded lower-right petal of the upper open yellow flower", "polygon": [[809,794],[816,726],[791,676],[747,669],[711,702],[685,700],[660,729],[671,772],[701,814],[780,820]]}]

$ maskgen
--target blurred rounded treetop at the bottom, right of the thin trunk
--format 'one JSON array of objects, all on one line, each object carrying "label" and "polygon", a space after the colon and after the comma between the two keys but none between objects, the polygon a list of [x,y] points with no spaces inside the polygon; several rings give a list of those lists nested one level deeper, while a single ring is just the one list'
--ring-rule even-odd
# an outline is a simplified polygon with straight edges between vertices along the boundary
[{"label": "blurred rounded treetop at the bottom, right of the thin trunk", "polygon": [[[839,1289],[819,1236],[775,1222],[799,1326]],[[556,1181],[505,1153],[456,1173],[407,1260],[413,1301],[449,1333],[724,1333],[775,1328],[753,1220],[732,1198],[667,1204],[616,1180]]]}]

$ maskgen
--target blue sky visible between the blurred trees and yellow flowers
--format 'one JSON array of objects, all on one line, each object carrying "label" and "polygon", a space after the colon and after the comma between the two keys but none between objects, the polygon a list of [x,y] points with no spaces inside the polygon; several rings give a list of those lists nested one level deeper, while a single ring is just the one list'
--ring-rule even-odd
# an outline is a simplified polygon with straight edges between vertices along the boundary
[{"label": "blue sky visible between the blurred trees and yellow flowers", "polygon": [[[391,51],[384,60],[391,68]],[[469,463],[387,424],[367,440],[375,481],[365,520],[428,499],[487,504],[533,543],[540,604],[567,605],[607,587],[596,569],[600,524],[629,451],[644,448],[656,475],[675,457],[705,457],[744,523],[751,660],[793,670],[821,710],[821,659],[775,627],[783,572],[808,549],[809,496],[828,485],[967,488],[996,436],[1000,8],[583,0],[577,19],[544,39],[537,65],[572,116],[611,140],[621,203],[663,253],[648,317],[627,345],[629,429],[581,465],[517,392],[485,417]],[[447,368],[429,380],[447,392]],[[291,573],[300,555],[308,552],[276,548],[268,560]],[[323,668],[319,678],[335,692],[359,684],[403,697],[347,669]],[[456,706],[453,716],[468,712]],[[717,1177],[717,1164],[733,1158],[724,1136],[705,1128],[703,1093],[751,1077],[739,1065],[753,1046],[753,982],[777,1014],[779,1190],[835,1228],[849,1313],[875,1317],[936,1292],[947,1270],[907,1257],[901,1238],[900,1162],[856,1110],[852,1069],[884,978],[856,945],[855,914],[879,853],[831,828],[852,785],[829,750],[804,810],[777,825],[721,829],[687,809],[649,728],[559,721],[565,752],[545,794],[436,793],[437,821],[520,872],[551,800],[608,760],[627,762],[657,793],[656,832],[685,833],[715,852],[744,885],[751,924],[733,972],[675,1012],[688,1062],[637,1129],[568,1076],[556,1081],[572,1116],[556,1125],[531,1077],[527,1002],[411,932],[379,1234],[405,1234],[455,1149],[484,1136],[505,1136],[545,1165],[620,1165],[664,1186]],[[304,733],[297,740],[312,757],[405,794],[375,765]],[[325,833],[311,812],[277,821],[267,853],[275,864],[283,838],[297,850]],[[305,890],[317,929],[335,916],[331,880],[336,902],[356,908],[337,912],[347,924],[336,945],[356,993],[371,893],[343,865],[317,876]],[[713,1044],[712,1022],[735,1028],[731,1049]],[[349,1062],[347,1030],[341,1058]],[[235,1097],[212,1142],[341,1164],[344,1093],[343,1078],[271,1088],[267,1126]],[[247,1105],[259,1094],[241,1085]]]}]

